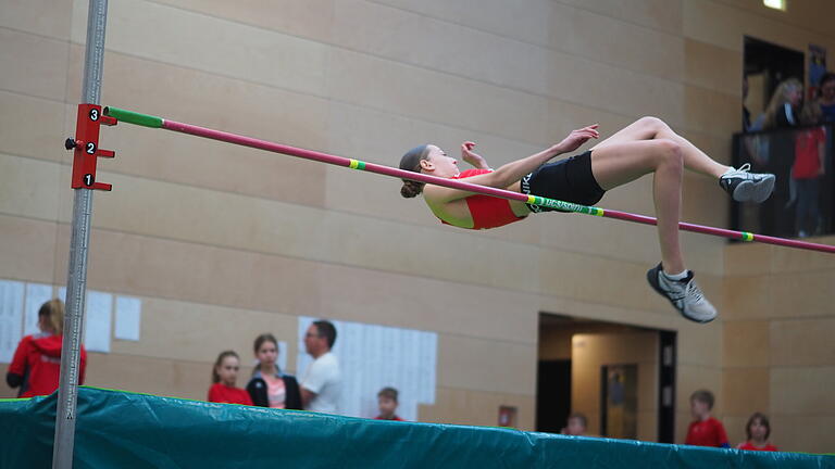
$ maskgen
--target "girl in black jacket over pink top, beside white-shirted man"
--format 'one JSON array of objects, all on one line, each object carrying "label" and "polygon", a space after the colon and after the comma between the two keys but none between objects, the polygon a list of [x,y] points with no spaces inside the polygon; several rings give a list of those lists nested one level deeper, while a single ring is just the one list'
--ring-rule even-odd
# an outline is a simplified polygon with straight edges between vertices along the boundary
[{"label": "girl in black jacket over pink top, beside white-shirted man", "polygon": [[259,407],[301,409],[301,392],[296,378],[278,369],[278,341],[271,333],[256,338],[252,346],[258,366],[247,384],[252,403]]}]

